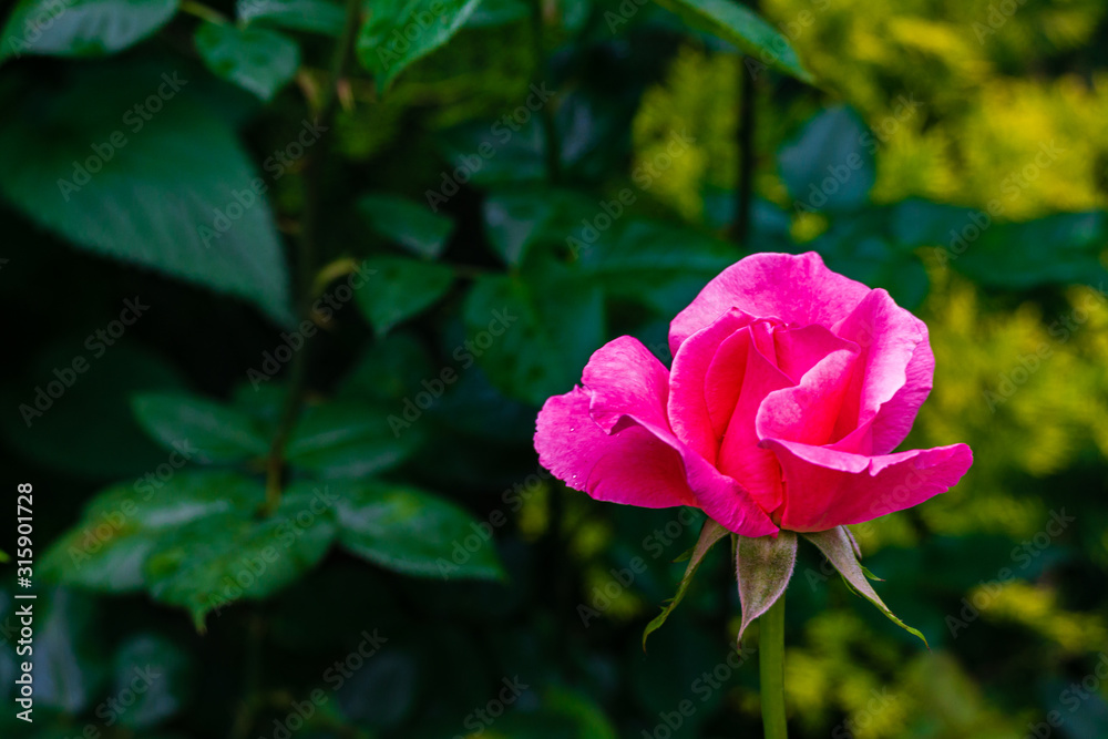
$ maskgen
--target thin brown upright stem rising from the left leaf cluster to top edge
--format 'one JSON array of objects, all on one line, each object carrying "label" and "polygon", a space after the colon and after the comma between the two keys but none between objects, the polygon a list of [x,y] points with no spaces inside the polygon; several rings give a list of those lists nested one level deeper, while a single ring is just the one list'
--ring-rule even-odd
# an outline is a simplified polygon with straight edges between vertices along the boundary
[{"label": "thin brown upright stem rising from the left leaf cluster to top edge", "polygon": [[[335,122],[335,114],[338,110],[337,86],[346,76],[350,60],[353,57],[353,42],[358,35],[360,20],[361,0],[347,0],[346,20],[331,60],[331,79],[324,88],[319,102],[319,111],[316,114],[316,125],[321,131],[326,132]],[[304,176],[304,215],[300,219],[300,233],[297,240],[296,274],[300,301],[299,316],[302,320],[311,320],[311,304],[315,297],[316,255],[318,253],[319,205],[322,198],[321,172],[328,154],[330,154],[330,137],[326,135],[321,136],[319,143],[316,144],[314,155],[305,161],[304,168],[301,170]],[[280,504],[285,448],[288,445],[296,420],[300,415],[300,406],[304,402],[307,389],[306,379],[307,346],[301,347],[299,351],[293,355],[288,394],[285,397],[285,406],[281,409],[277,432],[274,434],[273,443],[269,447],[269,455],[266,459],[266,513],[273,513]]]}]

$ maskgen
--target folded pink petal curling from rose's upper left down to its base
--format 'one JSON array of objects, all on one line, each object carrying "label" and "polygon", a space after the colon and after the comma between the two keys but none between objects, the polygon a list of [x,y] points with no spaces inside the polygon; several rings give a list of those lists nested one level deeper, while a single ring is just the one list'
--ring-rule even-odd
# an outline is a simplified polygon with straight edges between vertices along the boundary
[{"label": "folded pink petal curling from rose's upper left down to its base", "polygon": [[735,480],[717,470],[670,430],[666,417],[669,372],[632,337],[596,350],[582,377],[592,396],[589,415],[601,429],[622,433],[636,425],[676,451],[697,505],[719,524],[745,536],[766,536],[778,527]]}]

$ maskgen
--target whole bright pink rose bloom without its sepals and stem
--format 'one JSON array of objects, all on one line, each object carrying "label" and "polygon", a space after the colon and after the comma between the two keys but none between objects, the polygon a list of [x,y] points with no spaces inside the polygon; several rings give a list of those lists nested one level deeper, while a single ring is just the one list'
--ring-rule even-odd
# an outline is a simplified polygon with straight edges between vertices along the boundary
[{"label": "whole bright pink rose bloom without its sepals and stem", "polygon": [[965,444],[893,453],[931,391],[927,327],[815,253],[725,269],[669,326],[673,369],[620,337],[550,398],[535,449],[598,501],[690,505],[728,530],[814,532],[956,484]]}]

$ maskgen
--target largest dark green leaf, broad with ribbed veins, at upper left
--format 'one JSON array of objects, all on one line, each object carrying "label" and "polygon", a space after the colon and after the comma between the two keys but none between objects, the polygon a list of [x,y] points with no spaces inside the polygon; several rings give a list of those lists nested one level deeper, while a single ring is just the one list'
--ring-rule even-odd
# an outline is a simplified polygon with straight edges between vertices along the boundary
[{"label": "largest dark green leaf, broad with ribbed veins, at upper left", "polygon": [[[157,64],[65,72],[60,92],[39,85],[3,101],[0,194],[75,246],[291,322],[273,213],[252,184],[261,181],[235,132],[189,94],[192,82]],[[150,97],[164,107],[145,121],[133,109]]]}]

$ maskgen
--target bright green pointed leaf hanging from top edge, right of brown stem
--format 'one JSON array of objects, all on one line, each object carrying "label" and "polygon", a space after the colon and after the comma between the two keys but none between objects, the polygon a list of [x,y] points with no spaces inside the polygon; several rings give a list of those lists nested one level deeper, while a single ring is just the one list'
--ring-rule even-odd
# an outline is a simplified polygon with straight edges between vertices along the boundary
[{"label": "bright green pointed leaf hanging from top edge, right of brown stem", "polygon": [[444,45],[481,0],[384,0],[358,35],[357,53],[381,91],[412,62]]}]

